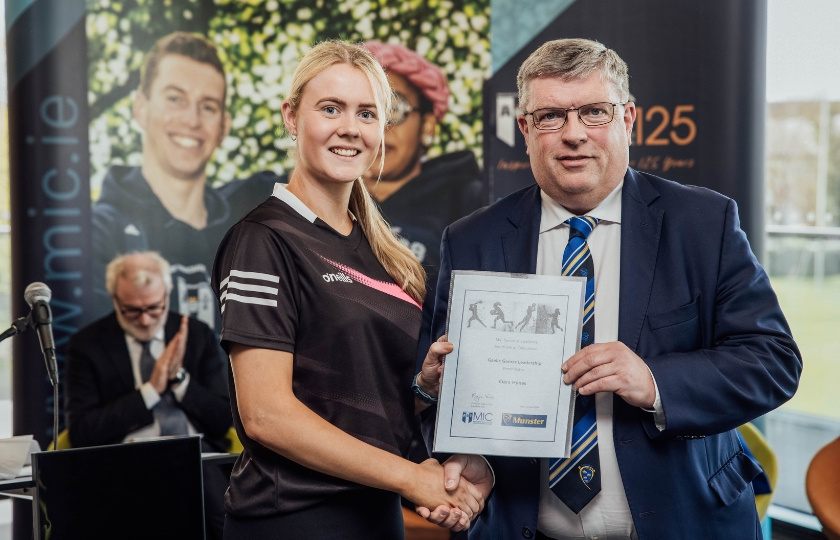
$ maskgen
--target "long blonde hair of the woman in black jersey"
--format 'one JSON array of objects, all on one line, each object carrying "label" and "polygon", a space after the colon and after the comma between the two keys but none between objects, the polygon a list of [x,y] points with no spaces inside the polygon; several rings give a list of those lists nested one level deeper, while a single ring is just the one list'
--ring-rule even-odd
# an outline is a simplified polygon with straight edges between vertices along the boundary
[{"label": "long blonde hair of the woman in black jersey", "polygon": [[[293,113],[297,113],[306,84],[335,64],[349,64],[361,70],[373,89],[378,111],[379,136],[382,140],[379,160],[381,174],[385,164],[385,125],[388,123],[391,110],[392,94],[385,71],[370,51],[339,40],[324,41],[315,45],[303,56],[292,74],[292,84],[286,103],[289,104]],[[417,303],[422,304],[426,295],[426,272],[417,257],[391,232],[391,227],[379,213],[361,178],[353,182],[349,206],[379,263],[397,285]]]}]

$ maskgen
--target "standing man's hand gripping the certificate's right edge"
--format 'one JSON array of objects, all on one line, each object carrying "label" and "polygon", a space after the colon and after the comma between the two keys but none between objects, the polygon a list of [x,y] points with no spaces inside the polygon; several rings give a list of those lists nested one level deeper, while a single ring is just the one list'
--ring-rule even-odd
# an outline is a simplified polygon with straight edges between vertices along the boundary
[{"label": "standing man's hand gripping the certificate's right edge", "polygon": [[656,400],[647,364],[620,341],[584,347],[561,366],[563,382],[578,392],[615,392],[634,407],[650,409]]}]

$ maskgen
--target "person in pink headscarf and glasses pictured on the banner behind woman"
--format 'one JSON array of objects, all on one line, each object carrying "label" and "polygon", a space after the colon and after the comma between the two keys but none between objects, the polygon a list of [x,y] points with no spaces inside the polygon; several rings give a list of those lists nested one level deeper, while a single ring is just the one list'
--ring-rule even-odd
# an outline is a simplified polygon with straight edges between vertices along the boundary
[{"label": "person in pink headscarf and glasses pictured on the banner behind woman", "polygon": [[385,168],[381,176],[369,170],[365,185],[391,230],[423,265],[427,298],[434,298],[443,229],[488,204],[487,191],[470,150],[427,159],[437,126],[449,110],[443,71],[404,45],[362,45],[385,68],[396,98],[385,131]]}]

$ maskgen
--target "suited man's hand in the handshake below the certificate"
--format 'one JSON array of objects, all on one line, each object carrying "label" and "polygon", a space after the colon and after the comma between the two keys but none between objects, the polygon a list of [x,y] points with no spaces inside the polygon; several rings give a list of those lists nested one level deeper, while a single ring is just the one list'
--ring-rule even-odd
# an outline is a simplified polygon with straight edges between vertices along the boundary
[{"label": "suited man's hand in the handshake below the certificate", "polygon": [[[444,462],[443,471],[444,487],[447,491],[457,489],[463,482],[468,482],[480,493],[481,506],[473,515],[474,520],[484,510],[484,502],[493,489],[493,471],[490,470],[487,461],[481,456],[455,454]],[[454,514],[445,506],[439,506],[434,511],[417,507],[417,513],[435,525],[460,530],[460,515]]]}]

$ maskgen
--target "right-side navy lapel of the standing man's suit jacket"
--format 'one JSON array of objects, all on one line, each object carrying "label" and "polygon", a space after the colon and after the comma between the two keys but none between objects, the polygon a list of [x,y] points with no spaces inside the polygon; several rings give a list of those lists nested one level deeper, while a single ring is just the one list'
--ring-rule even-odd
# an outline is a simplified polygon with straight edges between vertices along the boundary
[{"label": "right-side navy lapel of the standing man's suit jacket", "polygon": [[663,211],[652,206],[658,192],[627,170],[621,194],[621,270],[618,339],[636,350],[645,321],[662,232]]}]

